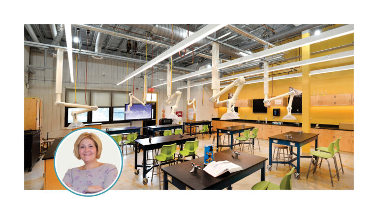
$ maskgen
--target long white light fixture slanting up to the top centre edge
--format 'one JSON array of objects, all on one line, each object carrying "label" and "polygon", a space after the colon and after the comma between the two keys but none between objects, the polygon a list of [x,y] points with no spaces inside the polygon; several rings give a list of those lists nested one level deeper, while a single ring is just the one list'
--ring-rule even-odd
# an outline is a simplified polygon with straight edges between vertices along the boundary
[{"label": "long white light fixture slanting up to the top centre edge", "polygon": [[117,84],[117,86],[119,86],[120,84],[126,82],[130,78],[138,75],[139,73],[141,73],[141,72],[149,69],[150,67],[156,65],[160,61],[163,61],[163,60],[167,59],[168,57],[176,54],[180,50],[183,50],[183,49],[187,48],[188,46],[194,44],[195,42],[199,41],[200,39],[204,38],[205,36],[207,36],[207,35],[215,32],[215,31],[218,31],[219,29],[223,28],[224,26],[225,25],[207,25],[207,26],[203,27],[202,29],[200,29],[199,31],[194,32],[189,37],[187,37],[186,39],[184,39],[181,42],[177,43],[172,48],[164,51],[162,54],[160,54],[155,59],[147,62],[142,67],[138,68],[137,70],[135,70],[132,73],[130,73],[129,75],[127,75],[124,80],[122,80],[121,82],[119,82]]}]

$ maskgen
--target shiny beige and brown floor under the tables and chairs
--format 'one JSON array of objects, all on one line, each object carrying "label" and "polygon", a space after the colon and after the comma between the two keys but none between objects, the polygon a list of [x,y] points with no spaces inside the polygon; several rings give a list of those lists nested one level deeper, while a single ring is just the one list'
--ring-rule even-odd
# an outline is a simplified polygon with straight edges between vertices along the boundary
[{"label": "shiny beige and brown floor under the tables and chairs", "polygon": [[[208,136],[208,135],[207,135]],[[208,137],[204,140],[200,139],[199,148],[197,153],[199,156],[203,156],[204,146],[212,144],[213,139]],[[257,142],[256,142],[257,143]],[[268,140],[260,139],[261,153],[255,150],[255,155],[269,157],[269,143]],[[112,189],[159,189],[158,186],[158,176],[154,177],[153,183],[151,183],[150,171],[147,174],[149,181],[146,185],[142,183],[142,173],[139,175],[134,175],[134,152],[132,147],[128,149],[128,155],[126,152],[124,155],[124,167],[118,182],[113,186]],[[246,148],[247,149],[247,148]],[[314,148],[311,148],[314,150]],[[142,160],[142,154],[138,154],[138,162]],[[149,158],[151,158],[151,152],[149,153]],[[300,179],[294,179],[292,177],[292,187],[293,189],[353,189],[353,153],[341,152],[341,157],[344,166],[344,174],[340,171],[340,181],[337,181],[335,177],[333,179],[334,186],[331,186],[331,181],[329,177],[328,165],[326,161],[323,161],[320,170],[316,170],[315,174],[310,173],[309,178],[306,180],[306,175],[311,158],[301,158],[301,175]],[[340,167],[340,161],[337,156],[338,166]],[[296,163],[296,162],[294,162]],[[266,162],[268,164],[268,161]],[[333,162],[331,163],[332,174],[336,173]],[[167,166],[167,165],[165,165]],[[157,169],[156,169],[157,170]],[[280,184],[282,177],[289,171],[287,165],[279,164],[276,170],[276,164],[272,167],[271,171],[266,170],[265,180],[272,183]],[[156,171],[155,171],[156,172]],[[38,161],[33,167],[32,172],[25,172],[25,189],[43,189],[43,161]],[[162,179],[162,177],[161,177]],[[260,172],[256,172],[243,180],[234,183],[232,185],[233,189],[251,189],[252,185],[260,181]],[[177,189],[173,185],[169,184],[169,189]]]}]

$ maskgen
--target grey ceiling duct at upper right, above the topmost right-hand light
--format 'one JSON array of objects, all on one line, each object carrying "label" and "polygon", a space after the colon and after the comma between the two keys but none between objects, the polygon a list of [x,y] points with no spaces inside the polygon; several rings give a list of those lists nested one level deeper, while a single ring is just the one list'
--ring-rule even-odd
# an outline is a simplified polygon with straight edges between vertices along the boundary
[{"label": "grey ceiling duct at upper right, above the topmost right-hand light", "polygon": [[[312,29],[312,28],[315,28],[315,27],[318,27],[318,26],[320,26],[320,25],[300,25],[300,26],[295,27],[295,28],[287,26],[286,28],[282,29],[281,31],[278,31],[277,34],[264,38],[264,40],[267,41],[267,42],[274,42],[274,41],[282,39],[284,37],[288,37],[288,36],[300,33],[302,31],[307,31],[309,29]],[[260,46],[261,46],[260,43],[253,42],[253,43],[250,43],[250,44],[247,44],[247,45],[240,47],[240,49],[249,50],[249,49],[257,48],[257,47],[260,47]]]}]

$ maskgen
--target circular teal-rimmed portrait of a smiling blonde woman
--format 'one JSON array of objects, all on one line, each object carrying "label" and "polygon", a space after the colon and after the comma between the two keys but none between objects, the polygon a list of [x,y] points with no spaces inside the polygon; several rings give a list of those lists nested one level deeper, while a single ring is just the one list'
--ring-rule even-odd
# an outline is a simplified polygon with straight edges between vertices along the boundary
[{"label": "circular teal-rimmed portrait of a smiling blonde woman", "polygon": [[110,189],[122,172],[123,158],[114,139],[95,128],[77,129],[59,143],[54,168],[69,191],[95,196]]}]

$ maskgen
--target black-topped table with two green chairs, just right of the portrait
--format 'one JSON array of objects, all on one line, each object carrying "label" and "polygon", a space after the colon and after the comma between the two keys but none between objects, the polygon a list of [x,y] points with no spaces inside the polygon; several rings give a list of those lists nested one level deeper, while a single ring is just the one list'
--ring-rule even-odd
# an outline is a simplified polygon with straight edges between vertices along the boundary
[{"label": "black-topped table with two green chairs, just right of the portrait", "polygon": [[[193,141],[195,140],[195,137],[192,137],[187,134],[183,134],[183,137],[180,138],[180,135],[169,135],[169,136],[161,136],[161,137],[154,137],[151,138],[151,143],[149,142],[149,138],[144,139],[137,139],[136,142],[136,150],[140,148],[143,150],[143,162],[142,165],[137,164],[138,163],[138,153],[135,152],[135,163],[134,163],[134,174],[139,174],[138,167],[142,167],[143,169],[143,184],[148,183],[148,179],[146,179],[146,174],[154,167],[153,165],[147,165],[147,151],[149,150],[155,150],[160,149],[163,145],[170,145],[176,143],[177,145],[180,145],[180,150],[183,149],[183,144],[185,144],[187,141]],[[166,164],[166,163],[164,163]],[[161,164],[161,165],[164,165]],[[158,166],[158,165],[155,165]]]}]

